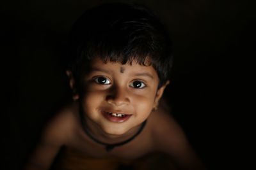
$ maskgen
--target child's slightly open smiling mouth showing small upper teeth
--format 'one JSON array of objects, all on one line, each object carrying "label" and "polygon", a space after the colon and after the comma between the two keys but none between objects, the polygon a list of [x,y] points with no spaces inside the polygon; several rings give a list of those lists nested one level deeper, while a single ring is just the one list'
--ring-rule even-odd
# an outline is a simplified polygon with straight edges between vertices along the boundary
[{"label": "child's slightly open smiling mouth showing small upper teeth", "polygon": [[110,122],[122,123],[128,120],[132,115],[117,113],[111,111],[102,111],[103,116]]}]

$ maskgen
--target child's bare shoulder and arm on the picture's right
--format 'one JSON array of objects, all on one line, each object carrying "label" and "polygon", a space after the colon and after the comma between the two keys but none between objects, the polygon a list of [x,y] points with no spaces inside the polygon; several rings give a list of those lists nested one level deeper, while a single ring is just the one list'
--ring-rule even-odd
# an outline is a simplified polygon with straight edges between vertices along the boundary
[{"label": "child's bare shoulder and arm on the picture's right", "polygon": [[154,141],[156,150],[170,155],[179,169],[205,169],[180,126],[169,115],[161,118],[161,127],[154,131]]}]

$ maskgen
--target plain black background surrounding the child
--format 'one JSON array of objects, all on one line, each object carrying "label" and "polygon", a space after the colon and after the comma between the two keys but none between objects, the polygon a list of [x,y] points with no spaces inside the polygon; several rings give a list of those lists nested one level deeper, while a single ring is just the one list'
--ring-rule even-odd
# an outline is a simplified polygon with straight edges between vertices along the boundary
[{"label": "plain black background surrounding the child", "polygon": [[[66,97],[61,58],[67,32],[84,10],[105,2],[115,1],[1,1],[1,169],[24,164],[42,126]],[[253,136],[246,116],[253,100],[246,99],[253,97],[248,80],[254,78],[255,5],[242,0],[122,2],[147,5],[170,30],[175,60],[166,96],[207,167],[246,169],[250,159],[242,152],[250,151],[247,136]]]}]

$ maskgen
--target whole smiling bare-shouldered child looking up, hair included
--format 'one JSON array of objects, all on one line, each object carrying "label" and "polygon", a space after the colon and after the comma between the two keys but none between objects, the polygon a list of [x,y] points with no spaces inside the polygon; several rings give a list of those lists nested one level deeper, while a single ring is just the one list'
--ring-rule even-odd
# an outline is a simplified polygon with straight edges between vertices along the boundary
[{"label": "whole smiling bare-shouldered child looking up, hair included", "polygon": [[[50,169],[58,153],[65,155],[63,169],[86,169],[90,158],[121,164],[158,152],[168,155],[173,169],[203,169],[161,100],[170,46],[167,31],[145,8],[104,4],[86,11],[70,36],[67,76],[74,101],[47,124],[26,169]],[[87,169],[118,168],[105,163]]]}]

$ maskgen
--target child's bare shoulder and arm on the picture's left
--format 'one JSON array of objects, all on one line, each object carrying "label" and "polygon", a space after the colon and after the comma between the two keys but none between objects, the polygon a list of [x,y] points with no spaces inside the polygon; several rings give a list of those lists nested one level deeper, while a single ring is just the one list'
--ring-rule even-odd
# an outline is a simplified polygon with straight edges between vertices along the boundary
[{"label": "child's bare shoulder and arm on the picture's left", "polygon": [[74,108],[67,106],[45,125],[41,139],[24,169],[49,169],[61,146],[65,145],[72,134],[75,120],[73,112]]}]

